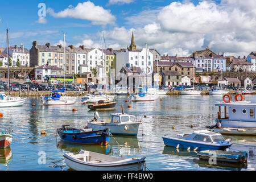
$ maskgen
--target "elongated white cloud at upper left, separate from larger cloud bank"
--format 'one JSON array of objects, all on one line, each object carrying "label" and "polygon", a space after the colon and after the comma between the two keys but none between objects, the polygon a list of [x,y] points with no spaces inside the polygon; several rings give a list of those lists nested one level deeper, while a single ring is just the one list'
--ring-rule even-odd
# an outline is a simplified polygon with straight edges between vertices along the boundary
[{"label": "elongated white cloud at upper left, separate from larger cloud bank", "polygon": [[47,12],[54,18],[84,19],[97,25],[115,24],[115,16],[110,13],[110,10],[96,6],[90,1],[78,3],[76,7],[69,5],[67,9],[59,13],[55,13],[51,8],[47,9]]}]

